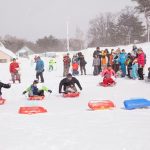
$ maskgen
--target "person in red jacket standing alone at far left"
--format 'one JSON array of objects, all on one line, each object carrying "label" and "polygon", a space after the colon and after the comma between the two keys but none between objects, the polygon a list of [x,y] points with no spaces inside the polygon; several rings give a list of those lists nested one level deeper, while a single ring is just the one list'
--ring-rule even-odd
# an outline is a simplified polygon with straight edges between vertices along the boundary
[{"label": "person in red jacket standing alone at far left", "polygon": [[13,61],[10,63],[10,66],[9,66],[9,71],[11,73],[11,78],[12,78],[13,83],[15,83],[15,80],[18,80],[19,83],[21,82],[19,69],[20,67],[19,67],[18,62],[16,62],[16,58],[13,58]]}]

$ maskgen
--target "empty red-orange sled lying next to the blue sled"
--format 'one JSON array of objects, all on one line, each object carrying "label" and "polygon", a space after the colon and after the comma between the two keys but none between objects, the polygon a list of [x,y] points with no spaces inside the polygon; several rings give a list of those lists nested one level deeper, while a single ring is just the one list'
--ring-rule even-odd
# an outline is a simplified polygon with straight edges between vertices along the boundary
[{"label": "empty red-orange sled lying next to the blue sled", "polygon": [[110,100],[92,100],[88,103],[88,106],[92,110],[104,110],[115,107],[114,103]]}]

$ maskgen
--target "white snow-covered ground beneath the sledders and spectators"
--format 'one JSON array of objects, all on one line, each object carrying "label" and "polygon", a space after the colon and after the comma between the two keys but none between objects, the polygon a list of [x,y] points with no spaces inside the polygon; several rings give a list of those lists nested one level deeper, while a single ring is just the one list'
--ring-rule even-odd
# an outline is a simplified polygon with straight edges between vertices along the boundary
[{"label": "white snow-covered ground beneath the sledders and spectators", "polygon": [[[150,66],[150,44],[139,45],[147,53]],[[120,47],[127,51],[131,46]],[[58,94],[62,79],[62,55],[57,69],[45,68],[45,85],[53,90],[44,101],[28,101],[22,92],[35,79],[30,60],[20,59],[21,84],[3,89],[5,105],[0,105],[0,150],[150,150],[150,109],[128,111],[123,101],[130,98],[150,99],[150,84],[144,81],[117,79],[115,87],[97,86],[100,76],[92,76],[93,50],[83,51],[87,64],[86,76],[78,76],[83,91],[79,98],[63,98]],[[44,58],[45,64],[48,60]],[[147,70],[147,66],[146,69]],[[0,79],[10,82],[9,64],[0,64]],[[147,72],[147,71],[145,71]],[[90,111],[90,100],[112,100],[113,110]],[[43,106],[45,114],[20,115],[20,106]]]}]

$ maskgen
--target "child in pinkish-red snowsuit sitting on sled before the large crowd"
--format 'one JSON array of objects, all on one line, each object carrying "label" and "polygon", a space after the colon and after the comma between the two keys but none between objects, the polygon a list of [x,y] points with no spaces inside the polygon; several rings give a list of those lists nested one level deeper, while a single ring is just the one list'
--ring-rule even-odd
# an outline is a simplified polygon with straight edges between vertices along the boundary
[{"label": "child in pinkish-red snowsuit sitting on sled before the large crowd", "polygon": [[103,82],[100,83],[103,86],[112,86],[116,82],[112,79],[112,76],[116,77],[115,71],[112,69],[111,65],[108,65],[106,69],[102,72]]}]

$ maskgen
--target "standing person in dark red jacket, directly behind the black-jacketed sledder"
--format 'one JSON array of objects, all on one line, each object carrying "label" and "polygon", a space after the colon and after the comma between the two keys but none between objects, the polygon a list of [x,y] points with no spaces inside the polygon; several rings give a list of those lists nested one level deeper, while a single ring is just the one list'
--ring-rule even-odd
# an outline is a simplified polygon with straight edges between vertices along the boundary
[{"label": "standing person in dark red jacket, directly behind the black-jacketed sledder", "polygon": [[69,53],[63,56],[63,64],[64,64],[64,71],[63,76],[65,77],[69,73],[71,58],[69,57]]}]

